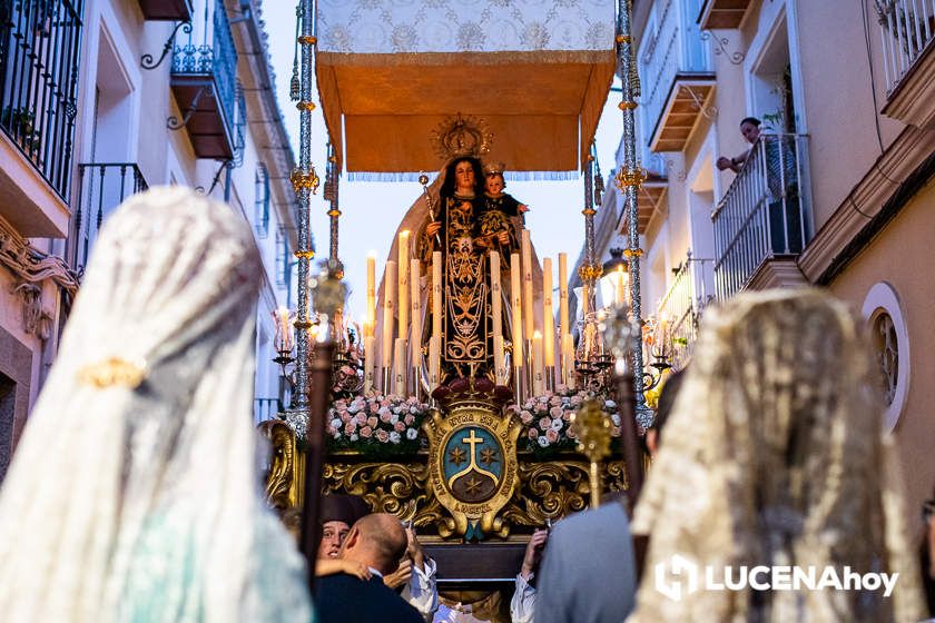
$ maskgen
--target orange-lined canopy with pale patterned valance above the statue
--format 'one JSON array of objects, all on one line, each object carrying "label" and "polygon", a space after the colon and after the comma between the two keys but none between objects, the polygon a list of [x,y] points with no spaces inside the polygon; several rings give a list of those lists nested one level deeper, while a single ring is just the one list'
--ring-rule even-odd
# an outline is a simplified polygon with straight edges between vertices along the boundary
[{"label": "orange-lined canopy with pale patterned valance above the statue", "polygon": [[431,138],[482,119],[511,171],[575,171],[613,77],[613,0],[319,0],[316,71],[355,177],[437,170]]}]

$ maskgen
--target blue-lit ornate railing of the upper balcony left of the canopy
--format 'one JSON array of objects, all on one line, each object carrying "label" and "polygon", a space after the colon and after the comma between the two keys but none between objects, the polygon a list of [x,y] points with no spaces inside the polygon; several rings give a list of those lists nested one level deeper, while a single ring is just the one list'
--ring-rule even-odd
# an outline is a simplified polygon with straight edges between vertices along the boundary
[{"label": "blue-lit ornate railing of the upper balcony left of the canopy", "polygon": [[234,130],[237,99],[237,49],[222,0],[201,0],[203,10],[191,28],[176,36],[173,73],[214,76],[218,108]]}]

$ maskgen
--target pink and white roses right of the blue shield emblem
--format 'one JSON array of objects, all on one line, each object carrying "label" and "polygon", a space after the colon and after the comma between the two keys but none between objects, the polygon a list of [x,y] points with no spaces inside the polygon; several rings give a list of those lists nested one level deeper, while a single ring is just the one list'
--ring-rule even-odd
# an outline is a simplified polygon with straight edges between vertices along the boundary
[{"label": "pink and white roses right of the blue shield emblem", "polygon": [[529,398],[522,405],[509,407],[523,424],[520,447],[525,446],[535,454],[574,449],[578,435],[571,423],[571,415],[591,397],[603,403],[603,412],[608,414],[612,424],[611,437],[620,437],[620,413],[617,403],[603,395],[575,392],[559,385],[555,392],[545,392],[541,396]]}]

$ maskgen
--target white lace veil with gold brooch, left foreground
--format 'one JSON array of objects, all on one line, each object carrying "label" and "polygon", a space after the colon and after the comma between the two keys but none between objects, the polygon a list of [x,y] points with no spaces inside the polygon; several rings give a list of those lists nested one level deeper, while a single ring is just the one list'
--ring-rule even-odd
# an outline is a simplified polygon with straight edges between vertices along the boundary
[{"label": "white lace veil with gold brooch, left foreground", "polygon": [[108,219],[0,491],[1,620],[311,620],[257,482],[262,274],[189,190]]}]

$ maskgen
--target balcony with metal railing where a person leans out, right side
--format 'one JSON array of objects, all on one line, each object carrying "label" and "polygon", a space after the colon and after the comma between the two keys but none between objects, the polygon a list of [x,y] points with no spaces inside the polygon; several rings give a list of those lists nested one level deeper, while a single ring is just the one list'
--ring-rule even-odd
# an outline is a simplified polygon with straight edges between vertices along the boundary
[{"label": "balcony with metal railing where a person leans out, right side", "polygon": [[806,137],[760,135],[718,204],[715,288],[719,299],[741,289],[805,285],[796,257],[808,228]]}]

